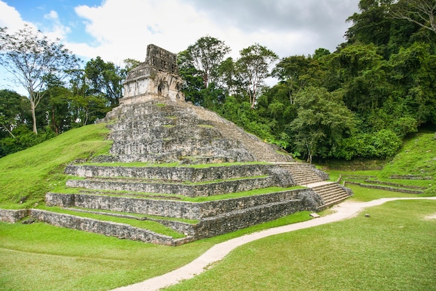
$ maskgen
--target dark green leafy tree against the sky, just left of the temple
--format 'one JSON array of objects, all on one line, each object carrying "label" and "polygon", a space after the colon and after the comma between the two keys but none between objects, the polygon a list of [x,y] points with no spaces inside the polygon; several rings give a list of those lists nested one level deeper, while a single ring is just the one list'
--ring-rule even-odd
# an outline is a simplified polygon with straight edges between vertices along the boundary
[{"label": "dark green leafy tree against the sky, just left of the temple", "polygon": [[89,82],[89,94],[102,94],[112,108],[118,106],[123,97],[123,80],[127,70],[96,57],[86,63],[85,74]]}]

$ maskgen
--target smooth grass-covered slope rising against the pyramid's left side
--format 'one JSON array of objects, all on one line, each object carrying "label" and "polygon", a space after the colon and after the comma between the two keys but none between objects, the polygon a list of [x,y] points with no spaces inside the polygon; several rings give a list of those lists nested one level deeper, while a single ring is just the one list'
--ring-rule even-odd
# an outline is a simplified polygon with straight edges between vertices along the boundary
[{"label": "smooth grass-covered slope rising against the pyramid's left side", "polygon": [[[106,124],[83,126],[0,158],[0,208],[32,207],[42,202],[45,193],[65,185],[63,170],[68,163],[109,151],[108,134]],[[20,204],[22,197],[26,201]]]}]

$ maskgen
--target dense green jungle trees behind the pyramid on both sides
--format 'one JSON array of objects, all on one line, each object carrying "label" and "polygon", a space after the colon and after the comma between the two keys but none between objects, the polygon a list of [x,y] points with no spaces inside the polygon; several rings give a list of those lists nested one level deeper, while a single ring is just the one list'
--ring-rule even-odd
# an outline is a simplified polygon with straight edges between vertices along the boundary
[{"label": "dense green jungle trees behind the pyramid on both sides", "polygon": [[[178,54],[183,91],[192,103],[309,162],[389,158],[408,134],[436,130],[435,9],[426,14],[421,2],[435,4],[361,0],[335,52],[279,59],[256,43],[232,59],[223,41],[205,36]],[[120,68],[96,57],[66,79],[46,76],[38,135],[29,98],[1,90],[0,156],[104,117],[138,64],[127,59]],[[265,86],[268,77],[277,84]]]}]

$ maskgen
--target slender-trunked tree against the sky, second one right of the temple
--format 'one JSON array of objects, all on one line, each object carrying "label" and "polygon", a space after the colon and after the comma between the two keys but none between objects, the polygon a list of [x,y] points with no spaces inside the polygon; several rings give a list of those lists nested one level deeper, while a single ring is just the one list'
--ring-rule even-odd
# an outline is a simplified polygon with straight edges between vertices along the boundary
[{"label": "slender-trunked tree against the sky, second one right of the temple", "polygon": [[256,105],[258,89],[265,78],[270,77],[270,67],[277,59],[279,59],[277,54],[258,43],[240,51],[236,68],[249,95],[251,109]]}]

